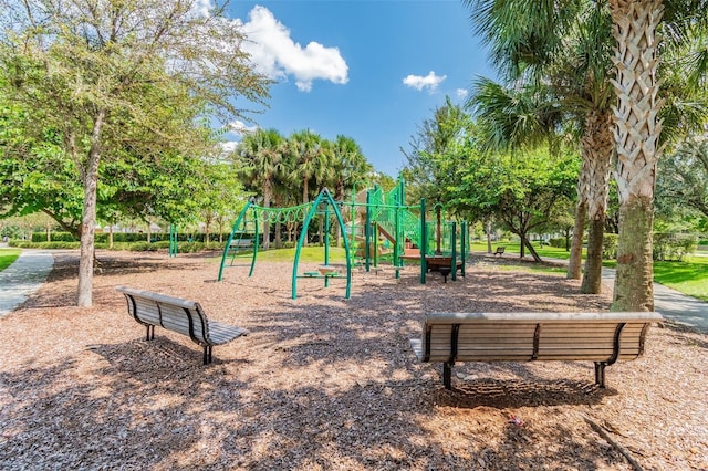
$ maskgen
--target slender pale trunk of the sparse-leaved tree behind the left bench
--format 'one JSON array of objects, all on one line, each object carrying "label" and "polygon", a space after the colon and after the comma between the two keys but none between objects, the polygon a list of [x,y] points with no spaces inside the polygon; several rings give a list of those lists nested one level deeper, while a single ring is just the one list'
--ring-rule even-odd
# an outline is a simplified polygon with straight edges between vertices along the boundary
[{"label": "slender pale trunk of the sparse-leaved tree behind the left bench", "polygon": [[81,258],[79,260],[79,289],[76,305],[91,307],[93,304],[93,259],[94,231],[96,228],[96,188],[98,186],[98,165],[101,164],[101,129],[105,111],[101,109],[91,134],[88,161],[83,175],[84,208],[81,218]]}]

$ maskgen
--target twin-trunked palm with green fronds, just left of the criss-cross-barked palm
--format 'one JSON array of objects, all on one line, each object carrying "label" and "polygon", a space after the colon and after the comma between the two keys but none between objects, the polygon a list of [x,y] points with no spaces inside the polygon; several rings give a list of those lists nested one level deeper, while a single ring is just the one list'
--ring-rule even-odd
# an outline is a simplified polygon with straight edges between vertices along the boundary
[{"label": "twin-trunked palm with green fronds, just left of the criss-cross-barked palm", "polygon": [[[537,34],[533,29],[521,29],[513,41],[507,38],[506,49],[498,48],[497,54],[510,56],[504,60],[512,87],[503,90],[489,81],[479,81],[469,103],[477,107],[482,129],[504,146],[535,144],[541,137],[553,139],[561,124],[563,132],[573,132],[580,144],[582,166],[568,276],[580,278],[587,214],[589,249],[581,291],[600,293],[607,182],[614,153],[611,128],[614,95],[608,81],[610,48],[603,48],[610,35],[610,17],[596,4],[585,6],[576,11],[575,21],[570,18],[558,21],[563,31],[552,30],[551,38],[537,40],[538,50],[519,53],[525,38]],[[488,21],[481,13],[475,18],[480,25]],[[499,94],[509,96],[503,100],[496,96]],[[517,95],[528,97],[519,100]]]}]

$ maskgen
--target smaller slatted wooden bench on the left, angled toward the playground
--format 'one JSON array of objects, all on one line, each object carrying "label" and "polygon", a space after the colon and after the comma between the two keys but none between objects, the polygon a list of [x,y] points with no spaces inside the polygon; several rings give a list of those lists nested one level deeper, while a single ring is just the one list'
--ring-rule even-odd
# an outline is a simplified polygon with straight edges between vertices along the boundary
[{"label": "smaller slatted wooden bench on the left, angled toward the playground", "polygon": [[117,286],[128,303],[128,314],[147,327],[146,339],[155,338],[155,326],[177,332],[191,338],[204,347],[204,364],[211,363],[211,349],[241,335],[248,335],[246,328],[209,321],[204,310],[194,301],[166,296],[149,291]]}]

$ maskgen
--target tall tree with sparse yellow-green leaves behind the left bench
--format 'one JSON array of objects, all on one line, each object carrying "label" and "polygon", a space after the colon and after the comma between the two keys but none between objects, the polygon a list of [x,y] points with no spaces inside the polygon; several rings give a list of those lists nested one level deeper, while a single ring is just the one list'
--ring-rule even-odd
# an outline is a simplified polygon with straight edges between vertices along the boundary
[{"label": "tall tree with sparse yellow-green leaves behind the left bench", "polygon": [[[240,48],[240,23],[220,9],[202,14],[200,6],[27,0],[0,10],[0,74],[35,123],[61,134],[82,182],[80,306],[92,304],[102,161],[128,145],[134,129],[156,148],[189,148],[191,126],[165,119],[166,108],[208,109],[227,123],[242,114],[235,96],[261,102],[267,93]],[[147,91],[163,101],[146,103]]]}]

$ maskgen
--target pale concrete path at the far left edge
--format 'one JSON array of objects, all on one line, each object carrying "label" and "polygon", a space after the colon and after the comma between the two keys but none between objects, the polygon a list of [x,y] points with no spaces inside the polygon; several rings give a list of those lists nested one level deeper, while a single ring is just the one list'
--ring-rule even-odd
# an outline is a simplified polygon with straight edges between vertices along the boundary
[{"label": "pale concrete path at the far left edge", "polygon": [[53,265],[54,257],[50,252],[23,249],[14,263],[0,272],[0,317],[39,290]]}]

